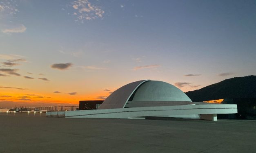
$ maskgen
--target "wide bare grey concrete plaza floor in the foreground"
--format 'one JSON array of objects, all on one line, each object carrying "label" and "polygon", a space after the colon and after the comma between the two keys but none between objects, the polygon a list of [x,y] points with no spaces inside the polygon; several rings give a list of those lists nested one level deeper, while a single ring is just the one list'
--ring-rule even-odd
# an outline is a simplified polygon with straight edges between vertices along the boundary
[{"label": "wide bare grey concrete plaza floor in the foreground", "polygon": [[256,153],[256,121],[0,113],[0,153]]}]

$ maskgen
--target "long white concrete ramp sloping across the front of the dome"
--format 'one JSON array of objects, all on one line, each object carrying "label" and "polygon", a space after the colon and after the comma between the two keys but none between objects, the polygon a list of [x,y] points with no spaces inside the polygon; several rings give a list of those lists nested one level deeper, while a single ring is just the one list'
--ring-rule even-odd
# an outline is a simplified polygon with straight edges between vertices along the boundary
[{"label": "long white concrete ramp sloping across the front of the dome", "polygon": [[174,116],[198,114],[234,114],[235,104],[178,105],[159,107],[132,107],[118,109],[97,109],[66,111],[66,118],[138,118],[145,116]]}]

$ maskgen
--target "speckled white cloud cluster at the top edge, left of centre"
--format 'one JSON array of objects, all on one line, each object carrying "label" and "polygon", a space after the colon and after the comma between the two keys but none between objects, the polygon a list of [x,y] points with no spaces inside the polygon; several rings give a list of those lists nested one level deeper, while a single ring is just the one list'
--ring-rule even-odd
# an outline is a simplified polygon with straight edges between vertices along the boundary
[{"label": "speckled white cloud cluster at the top edge, left of centre", "polygon": [[76,21],[81,23],[84,20],[93,20],[96,18],[102,18],[105,11],[103,11],[99,6],[91,4],[88,0],[76,0],[72,2],[73,15],[77,16]]}]

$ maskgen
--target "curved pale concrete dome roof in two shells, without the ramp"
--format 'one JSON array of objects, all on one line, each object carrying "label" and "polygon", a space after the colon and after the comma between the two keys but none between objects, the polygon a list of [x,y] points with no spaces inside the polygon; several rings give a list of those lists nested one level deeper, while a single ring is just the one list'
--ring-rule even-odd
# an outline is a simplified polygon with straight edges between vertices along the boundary
[{"label": "curved pale concrete dome roof in two shells, without the ramp", "polygon": [[180,89],[163,81],[141,80],[120,87],[109,95],[99,109],[124,108],[128,101],[187,101]]}]

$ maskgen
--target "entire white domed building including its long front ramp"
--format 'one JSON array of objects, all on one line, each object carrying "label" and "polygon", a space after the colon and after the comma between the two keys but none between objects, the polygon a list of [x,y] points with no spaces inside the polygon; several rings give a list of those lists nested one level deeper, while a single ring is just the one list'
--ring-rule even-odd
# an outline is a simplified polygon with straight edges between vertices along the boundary
[{"label": "entire white domed building including its long front ramp", "polygon": [[217,120],[216,114],[233,113],[237,113],[235,104],[192,102],[174,85],[162,81],[141,80],[120,87],[106,98],[99,109],[66,111],[65,117],[175,117]]}]

